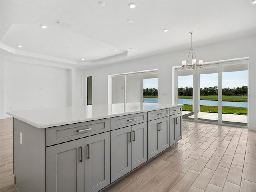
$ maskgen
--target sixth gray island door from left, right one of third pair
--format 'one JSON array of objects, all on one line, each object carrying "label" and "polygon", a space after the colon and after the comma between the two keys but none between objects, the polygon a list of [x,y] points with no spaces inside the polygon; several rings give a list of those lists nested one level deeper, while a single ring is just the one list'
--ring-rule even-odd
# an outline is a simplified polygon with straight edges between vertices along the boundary
[{"label": "sixth gray island door from left, right one of third pair", "polygon": [[169,146],[169,117],[163,117],[160,118],[160,152]]}]

